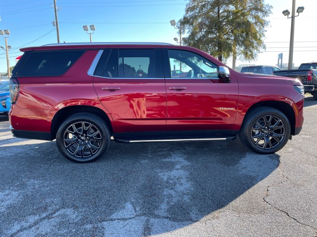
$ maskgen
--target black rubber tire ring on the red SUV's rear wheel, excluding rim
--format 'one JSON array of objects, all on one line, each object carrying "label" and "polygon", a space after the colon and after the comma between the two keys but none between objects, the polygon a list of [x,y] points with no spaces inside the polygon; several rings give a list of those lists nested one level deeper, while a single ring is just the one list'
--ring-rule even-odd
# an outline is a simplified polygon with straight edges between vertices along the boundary
[{"label": "black rubber tire ring on the red SUV's rear wheel, excluding rim", "polygon": [[[101,132],[101,136],[102,136],[102,144],[100,149],[98,150],[98,152],[96,152],[94,155],[87,157],[87,158],[79,158],[76,157],[72,154],[70,154],[67,149],[64,146],[64,142],[63,142],[63,137],[64,137],[64,132],[65,130],[72,124],[75,122],[80,122],[80,121],[85,121],[85,122],[90,122],[92,123],[94,126],[96,126],[99,131]],[[62,155],[74,162],[78,162],[78,163],[86,163],[86,162],[92,162],[98,158],[100,158],[107,150],[108,146],[110,143],[110,133],[108,131],[108,128],[106,127],[104,121],[95,115],[92,114],[76,114],[73,115],[67,119],[65,119],[59,126],[57,133],[56,133],[56,144],[57,147],[59,149],[59,151],[62,153]]]}]

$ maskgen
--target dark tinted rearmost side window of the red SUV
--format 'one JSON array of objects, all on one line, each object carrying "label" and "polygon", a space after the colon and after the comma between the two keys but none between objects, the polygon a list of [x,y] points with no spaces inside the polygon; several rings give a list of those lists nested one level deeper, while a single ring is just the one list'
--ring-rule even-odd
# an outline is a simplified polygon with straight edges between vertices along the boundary
[{"label": "dark tinted rearmost side window of the red SUV", "polygon": [[60,76],[84,53],[71,51],[32,51],[23,64],[19,77]]}]

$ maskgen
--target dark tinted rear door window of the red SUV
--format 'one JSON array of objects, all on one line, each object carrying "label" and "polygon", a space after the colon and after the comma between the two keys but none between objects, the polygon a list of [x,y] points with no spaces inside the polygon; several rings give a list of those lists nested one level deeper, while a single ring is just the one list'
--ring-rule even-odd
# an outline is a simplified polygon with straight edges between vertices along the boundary
[{"label": "dark tinted rear door window of the red SUV", "polygon": [[[106,78],[156,78],[155,49],[111,49],[101,74],[98,65],[96,75]],[[104,61],[101,59],[100,64]]]}]

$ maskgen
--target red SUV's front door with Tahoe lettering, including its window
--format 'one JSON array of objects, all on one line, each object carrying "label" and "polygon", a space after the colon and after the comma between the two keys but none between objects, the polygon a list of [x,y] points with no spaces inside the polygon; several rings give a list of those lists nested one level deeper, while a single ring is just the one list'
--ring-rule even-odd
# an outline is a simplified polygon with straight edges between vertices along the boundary
[{"label": "red SUV's front door with Tahoe lettering, including its window", "polygon": [[[163,49],[167,130],[230,130],[238,103],[238,83],[218,79],[217,66],[185,50]],[[182,77],[173,76],[175,70]],[[186,76],[184,76],[186,75]]]}]

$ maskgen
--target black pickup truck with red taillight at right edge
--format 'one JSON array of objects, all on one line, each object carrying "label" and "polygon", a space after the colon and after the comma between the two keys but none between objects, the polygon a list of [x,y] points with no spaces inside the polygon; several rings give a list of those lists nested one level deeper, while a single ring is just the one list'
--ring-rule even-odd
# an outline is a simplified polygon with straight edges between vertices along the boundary
[{"label": "black pickup truck with red taillight at right edge", "polygon": [[311,93],[314,100],[317,100],[317,62],[302,63],[298,70],[275,71],[273,75],[299,79],[304,85],[305,93]]}]

